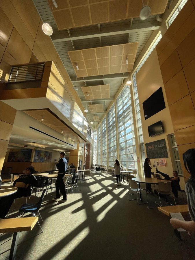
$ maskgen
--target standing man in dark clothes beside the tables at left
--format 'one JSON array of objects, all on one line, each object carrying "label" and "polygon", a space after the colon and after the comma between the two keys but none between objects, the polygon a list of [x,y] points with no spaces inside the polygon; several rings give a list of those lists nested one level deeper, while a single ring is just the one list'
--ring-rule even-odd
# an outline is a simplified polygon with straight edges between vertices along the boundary
[{"label": "standing man in dark clothes beside the tables at left", "polygon": [[60,192],[62,193],[62,200],[59,200],[60,202],[66,202],[66,189],[64,184],[64,175],[66,173],[66,169],[68,168],[68,163],[66,159],[64,158],[65,153],[60,153],[60,161],[56,164],[58,168],[58,175],[57,180],[55,182],[55,189],[56,189],[56,196],[53,198],[53,200],[60,199]]}]

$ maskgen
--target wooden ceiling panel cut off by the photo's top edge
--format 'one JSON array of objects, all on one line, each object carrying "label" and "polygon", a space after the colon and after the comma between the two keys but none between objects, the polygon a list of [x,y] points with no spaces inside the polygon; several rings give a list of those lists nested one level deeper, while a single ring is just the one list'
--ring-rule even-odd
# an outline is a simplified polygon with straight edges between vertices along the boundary
[{"label": "wooden ceiling panel cut off by the photo's top edge", "polygon": [[[168,0],[143,2],[155,15],[164,13]],[[143,7],[142,0],[56,0],[57,8],[48,3],[59,30],[139,17]]]}]

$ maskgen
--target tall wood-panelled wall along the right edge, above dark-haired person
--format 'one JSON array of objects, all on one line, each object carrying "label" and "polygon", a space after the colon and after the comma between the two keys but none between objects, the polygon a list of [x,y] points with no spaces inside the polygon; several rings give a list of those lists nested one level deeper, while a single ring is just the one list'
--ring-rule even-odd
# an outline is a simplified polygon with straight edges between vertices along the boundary
[{"label": "tall wood-panelled wall along the right edge, above dark-haired person", "polygon": [[[193,1],[194,2],[194,1]],[[195,10],[188,0],[157,45],[184,179],[182,154],[195,147]],[[182,25],[181,25],[181,22]],[[174,50],[173,53],[171,51]],[[185,96],[186,95],[186,96]]]}]

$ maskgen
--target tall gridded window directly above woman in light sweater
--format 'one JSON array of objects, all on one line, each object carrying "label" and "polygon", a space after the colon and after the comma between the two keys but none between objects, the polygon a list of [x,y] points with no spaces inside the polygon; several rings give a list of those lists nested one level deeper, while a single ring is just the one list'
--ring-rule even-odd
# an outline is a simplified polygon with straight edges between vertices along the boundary
[{"label": "tall gridded window directly above woman in light sweater", "polygon": [[126,86],[122,90],[116,100],[116,104],[120,164],[128,169],[137,169],[138,165],[129,86]]}]

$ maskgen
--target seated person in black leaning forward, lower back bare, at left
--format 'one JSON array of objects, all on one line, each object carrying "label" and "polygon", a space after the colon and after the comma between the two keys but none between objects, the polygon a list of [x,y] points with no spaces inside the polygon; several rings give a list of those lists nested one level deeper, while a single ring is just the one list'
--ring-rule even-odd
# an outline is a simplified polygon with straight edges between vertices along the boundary
[{"label": "seated person in black leaning forward, lower back bare, at left", "polygon": [[14,181],[13,187],[17,187],[18,190],[16,193],[3,197],[0,200],[0,218],[5,218],[7,215],[14,199],[21,198],[21,197],[27,197],[31,194],[31,185],[37,185],[37,180],[34,175],[32,175],[35,172],[35,169],[33,166],[30,166],[26,169],[25,174],[20,175],[18,179]]}]

